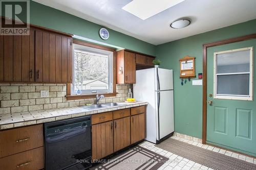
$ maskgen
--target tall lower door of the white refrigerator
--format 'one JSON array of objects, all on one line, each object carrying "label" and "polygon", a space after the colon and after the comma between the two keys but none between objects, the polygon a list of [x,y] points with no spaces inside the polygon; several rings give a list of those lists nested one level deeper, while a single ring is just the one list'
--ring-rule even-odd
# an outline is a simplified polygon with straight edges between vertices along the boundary
[{"label": "tall lower door of the white refrigerator", "polygon": [[156,92],[157,140],[174,132],[174,91]]}]

